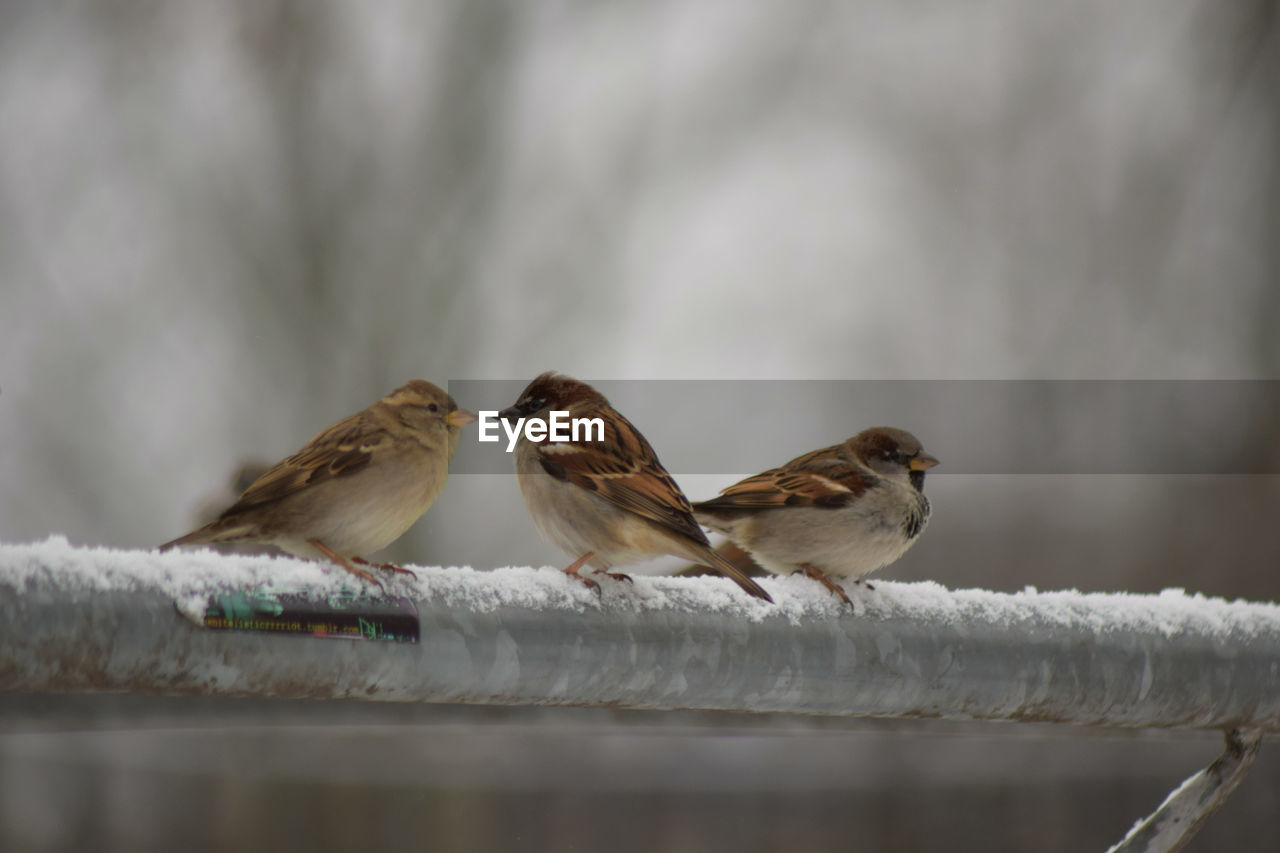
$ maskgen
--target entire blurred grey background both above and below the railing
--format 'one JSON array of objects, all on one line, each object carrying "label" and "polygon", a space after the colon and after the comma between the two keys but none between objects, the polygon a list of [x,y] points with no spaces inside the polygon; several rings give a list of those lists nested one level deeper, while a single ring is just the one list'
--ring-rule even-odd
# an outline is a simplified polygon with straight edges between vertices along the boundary
[{"label": "entire blurred grey background both above and below the railing", "polygon": [[[154,546],[415,377],[1280,379],[1276,5],[0,0],[0,540]],[[759,457],[675,470],[694,498],[887,418],[626,412]],[[1274,409],[1220,415],[1276,470]],[[1280,476],[948,475],[943,424],[895,425],[943,466],[886,576],[1280,598]],[[481,474],[387,556],[564,562]],[[136,697],[0,726],[5,850],[1102,849],[1219,748]],[[1189,849],[1275,849],[1272,752]]]}]

